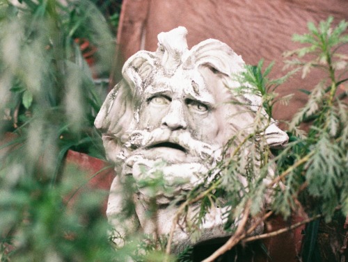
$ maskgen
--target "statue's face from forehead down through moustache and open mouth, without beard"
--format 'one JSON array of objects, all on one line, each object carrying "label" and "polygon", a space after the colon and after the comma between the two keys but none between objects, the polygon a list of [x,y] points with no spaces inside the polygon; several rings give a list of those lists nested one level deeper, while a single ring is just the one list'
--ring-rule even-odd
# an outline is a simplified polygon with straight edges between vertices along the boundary
[{"label": "statue's face from forehead down through moustache and open mouth, without beard", "polygon": [[145,147],[149,151],[165,148],[168,154],[161,156],[169,162],[173,162],[173,156],[177,156],[175,162],[191,162],[191,158],[202,161],[201,154],[212,154],[208,149],[222,146],[218,141],[221,128],[216,98],[203,76],[192,70],[152,81],[143,94],[136,129],[161,136]]}]

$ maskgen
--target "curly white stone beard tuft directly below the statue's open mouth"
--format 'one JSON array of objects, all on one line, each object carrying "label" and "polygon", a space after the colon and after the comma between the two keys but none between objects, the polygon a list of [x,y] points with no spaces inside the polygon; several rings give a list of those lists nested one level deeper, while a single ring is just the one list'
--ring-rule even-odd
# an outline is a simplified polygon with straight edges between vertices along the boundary
[{"label": "curly white stone beard tuft directly below the statue's open mouth", "polygon": [[[203,182],[205,174],[212,168],[202,159],[189,156],[179,149],[157,147],[136,152],[125,161],[122,177],[132,175],[141,193],[141,199],[149,202],[149,197],[155,197],[157,204],[169,204],[172,197],[181,191],[192,190],[198,183]],[[175,153],[175,154],[174,154]],[[161,158],[158,155],[161,155]],[[143,185],[146,179],[163,179],[166,192],[157,190],[155,196],[146,192],[151,190]]]}]

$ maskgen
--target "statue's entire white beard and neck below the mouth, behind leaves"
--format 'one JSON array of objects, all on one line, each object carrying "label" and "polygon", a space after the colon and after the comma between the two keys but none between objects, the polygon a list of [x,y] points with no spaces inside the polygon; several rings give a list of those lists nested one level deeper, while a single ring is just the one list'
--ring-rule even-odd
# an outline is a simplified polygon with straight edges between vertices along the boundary
[{"label": "statue's entire white beard and neck below the mouth, behind leaves", "polygon": [[[180,147],[169,148],[159,145],[134,151],[134,154],[125,161],[124,167],[123,174],[132,175],[138,186],[135,200],[136,215],[143,232],[153,234],[157,231],[159,234],[168,235],[178,208],[171,202],[180,193],[189,192],[198,183],[207,179],[206,174],[212,165],[207,165],[207,161],[202,158],[190,156]],[[156,177],[158,174],[163,176],[164,188],[168,190],[159,189],[156,195],[153,195],[151,188],[140,186],[143,179],[153,181],[158,178]],[[148,210],[153,199],[157,203],[157,219],[149,220]],[[189,208],[187,221],[192,221],[199,212],[200,206],[194,204]],[[173,235],[174,251],[180,252],[193,242],[202,243],[206,240],[230,236],[230,233],[226,233],[223,229],[223,225],[226,223],[226,218],[223,218],[224,213],[226,213],[226,208],[212,207],[212,210],[205,216],[203,224],[200,225],[202,234],[195,241],[192,241],[186,222],[181,221],[179,224],[182,224],[182,227],[176,227]]]}]

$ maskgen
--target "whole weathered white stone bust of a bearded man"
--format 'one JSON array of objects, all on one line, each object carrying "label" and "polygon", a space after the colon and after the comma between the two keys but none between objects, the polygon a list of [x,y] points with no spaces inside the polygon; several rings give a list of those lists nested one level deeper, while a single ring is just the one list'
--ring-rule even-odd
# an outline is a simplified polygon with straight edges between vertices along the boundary
[{"label": "whole weathered white stone bust of a bearded man", "polygon": [[[242,139],[251,132],[255,111],[260,109],[258,97],[232,95],[239,83],[230,76],[244,71],[242,58],[219,40],[205,40],[189,50],[186,35],[184,27],[160,33],[157,51],[139,51],[129,58],[122,81],[106,97],[95,120],[106,157],[116,164],[106,213],[118,245],[136,231],[168,234],[177,211],[169,205],[175,195],[205,179],[229,138],[241,133]],[[274,123],[264,136],[271,147],[287,142],[286,133]],[[125,218],[125,179],[151,179],[159,169],[165,186],[173,190],[155,193],[155,221],[146,214],[154,195],[139,183],[135,214]],[[200,240],[226,236],[220,209],[207,215]],[[177,229],[174,242],[186,245],[189,233]]]}]

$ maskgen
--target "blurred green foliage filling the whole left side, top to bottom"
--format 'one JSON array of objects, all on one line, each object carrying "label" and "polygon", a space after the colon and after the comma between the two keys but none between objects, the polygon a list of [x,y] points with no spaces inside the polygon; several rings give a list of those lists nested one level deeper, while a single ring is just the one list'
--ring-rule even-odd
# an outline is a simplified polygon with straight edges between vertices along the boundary
[{"label": "blurred green foliage filling the whole left side, top to bottom", "polygon": [[93,76],[110,72],[109,25],[90,1],[12,2],[0,3],[0,260],[116,261],[109,192],[68,201],[88,176],[63,170],[68,149],[104,158],[93,122],[106,88]]}]

